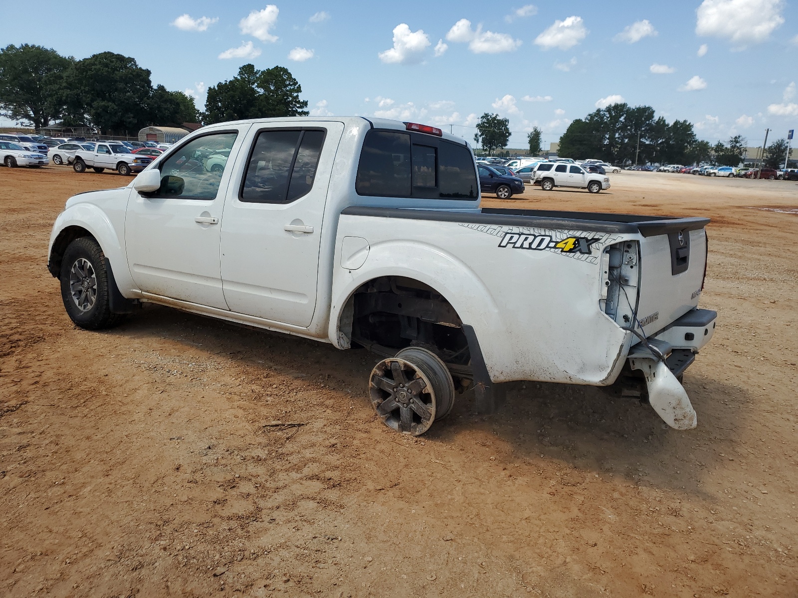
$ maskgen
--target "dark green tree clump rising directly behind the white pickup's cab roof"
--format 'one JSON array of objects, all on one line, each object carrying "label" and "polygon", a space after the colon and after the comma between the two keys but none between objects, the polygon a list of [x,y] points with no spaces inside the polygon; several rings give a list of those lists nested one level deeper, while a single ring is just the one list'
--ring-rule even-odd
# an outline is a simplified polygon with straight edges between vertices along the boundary
[{"label": "dark green tree clump rising directly behind the white pickup's cab roof", "polygon": [[243,65],[238,75],[207,90],[205,124],[247,118],[307,116],[302,86],[282,66],[260,71]]}]

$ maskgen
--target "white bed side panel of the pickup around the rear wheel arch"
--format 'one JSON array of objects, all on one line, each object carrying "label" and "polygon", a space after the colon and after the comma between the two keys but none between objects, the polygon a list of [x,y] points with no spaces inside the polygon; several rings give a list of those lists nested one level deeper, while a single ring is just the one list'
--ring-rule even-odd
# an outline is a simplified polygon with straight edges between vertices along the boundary
[{"label": "white bed side panel of the pickup around the rear wheel arch", "polygon": [[[500,247],[505,233],[597,238],[589,254]],[[365,238],[358,269],[341,266],[346,236]],[[472,325],[494,382],[611,384],[628,333],[599,309],[599,253],[620,234],[342,215],[334,258],[330,339],[342,307],[374,277],[412,277],[437,289]]]}]

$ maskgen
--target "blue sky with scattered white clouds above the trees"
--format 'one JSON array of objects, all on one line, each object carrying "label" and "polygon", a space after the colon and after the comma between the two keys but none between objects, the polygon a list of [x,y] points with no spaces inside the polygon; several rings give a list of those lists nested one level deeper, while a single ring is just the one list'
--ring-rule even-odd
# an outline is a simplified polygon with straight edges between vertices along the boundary
[{"label": "blue sky with scattered white clouds above the trees", "polygon": [[[784,0],[704,2],[145,2],[69,10],[4,2],[0,45],[77,58],[136,58],[153,84],[204,90],[240,65],[286,66],[314,114],[437,124],[472,139],[483,112],[510,119],[511,147],[617,100],[687,119],[701,138],[749,145],[798,128],[798,9]],[[184,16],[187,15],[187,16]]]}]

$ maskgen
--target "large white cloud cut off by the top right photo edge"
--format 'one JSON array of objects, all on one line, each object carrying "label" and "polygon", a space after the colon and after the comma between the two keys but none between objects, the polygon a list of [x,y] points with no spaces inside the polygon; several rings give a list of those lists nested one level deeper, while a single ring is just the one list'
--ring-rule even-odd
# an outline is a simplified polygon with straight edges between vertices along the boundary
[{"label": "large white cloud cut off by the top right photo edge", "polygon": [[760,43],[782,23],[784,0],[704,0],[697,10],[696,33],[724,37],[737,48]]}]

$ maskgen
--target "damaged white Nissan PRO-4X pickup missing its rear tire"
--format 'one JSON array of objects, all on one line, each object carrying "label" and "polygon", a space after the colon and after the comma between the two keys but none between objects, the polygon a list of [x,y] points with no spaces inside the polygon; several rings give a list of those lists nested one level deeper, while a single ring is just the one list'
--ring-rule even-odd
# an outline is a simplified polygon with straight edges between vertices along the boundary
[{"label": "damaged white Nissan PRO-4X pickup missing its rear tire", "polygon": [[636,393],[695,427],[679,379],[715,329],[709,220],[484,209],[478,181],[468,144],[425,125],[214,124],[69,199],[48,269],[85,329],[151,301],[369,349],[369,399],[407,434],[472,388],[494,410],[512,380]]}]

